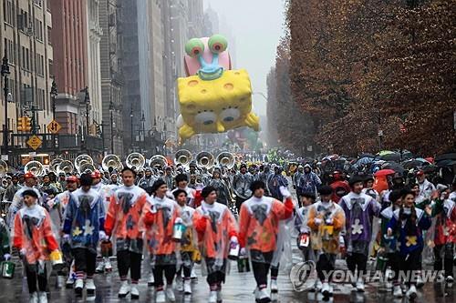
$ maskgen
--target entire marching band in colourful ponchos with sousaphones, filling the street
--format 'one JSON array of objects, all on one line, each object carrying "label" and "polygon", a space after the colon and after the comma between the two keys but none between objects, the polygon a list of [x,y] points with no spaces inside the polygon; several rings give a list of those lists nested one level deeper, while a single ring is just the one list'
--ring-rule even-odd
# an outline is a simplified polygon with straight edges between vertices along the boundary
[{"label": "entire marching band in colourful ponchos with sousaphones, filling the street", "polygon": [[[81,155],[74,162],[53,161],[48,172],[31,161],[23,174],[4,174],[2,277],[13,278],[12,255],[18,256],[30,302],[47,302],[51,272],[58,288],[94,296],[94,275],[111,272],[115,259],[119,298],[140,298],[146,265],[155,301],[173,302],[175,291],[192,296],[195,264],[201,263],[208,301],[220,303],[230,260],[237,259],[239,271],[252,268],[255,301],[266,303],[277,298],[285,233],[296,232],[303,259],[316,264],[311,290],[325,298],[333,295],[333,277],[326,273],[337,258],[346,259],[353,291],[365,291],[368,260],[377,258],[378,270],[394,273],[387,283],[391,295],[417,298],[420,282],[401,279],[399,271],[422,270],[426,247],[452,287],[456,179],[435,187],[419,171],[417,184],[406,186],[394,175],[378,193],[376,177],[354,173],[346,180],[335,172],[322,182],[306,164],[291,178],[293,197],[283,169],[244,163],[228,152],[193,157],[188,150],[178,151],[174,161],[132,153],[125,166],[116,155],[99,167]],[[295,231],[283,228],[288,224]]]}]

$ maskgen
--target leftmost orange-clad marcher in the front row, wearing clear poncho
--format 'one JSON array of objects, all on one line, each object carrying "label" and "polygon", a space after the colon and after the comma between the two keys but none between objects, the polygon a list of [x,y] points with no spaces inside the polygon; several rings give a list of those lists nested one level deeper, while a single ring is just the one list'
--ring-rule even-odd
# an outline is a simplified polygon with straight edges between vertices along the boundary
[{"label": "leftmost orange-clad marcher in the front row, wearing clear poncho", "polygon": [[[49,252],[58,252],[47,210],[36,204],[38,195],[33,189],[21,193],[25,207],[16,213],[13,247],[19,250],[26,268],[30,302],[47,303],[47,269]],[[36,282],[38,288],[36,288]]]}]

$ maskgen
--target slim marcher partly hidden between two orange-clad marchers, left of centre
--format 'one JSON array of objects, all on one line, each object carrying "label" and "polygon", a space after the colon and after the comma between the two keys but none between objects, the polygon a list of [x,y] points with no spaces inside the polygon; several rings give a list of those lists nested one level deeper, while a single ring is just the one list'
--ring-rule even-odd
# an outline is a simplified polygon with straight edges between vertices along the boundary
[{"label": "slim marcher partly hidden between two orange-clad marchers, left of centre", "polygon": [[[185,225],[185,234],[181,239],[181,268],[177,271],[177,289],[183,291],[184,294],[192,294],[191,278],[192,268],[195,254],[198,253],[198,248],[194,245],[196,237],[193,235],[193,213],[194,208],[187,206],[187,192],[182,189],[177,189],[173,192],[174,199],[179,204],[181,219]],[[181,279],[181,271],[183,271],[183,283]]]}]

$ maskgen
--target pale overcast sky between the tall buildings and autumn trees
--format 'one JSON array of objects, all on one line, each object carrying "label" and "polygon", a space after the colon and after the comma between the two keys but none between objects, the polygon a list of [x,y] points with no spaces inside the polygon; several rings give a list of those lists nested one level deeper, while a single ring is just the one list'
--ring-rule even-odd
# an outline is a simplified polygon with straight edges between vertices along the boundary
[{"label": "pale overcast sky between the tall buildings and autumn trees", "polygon": [[[220,34],[235,39],[235,67],[245,68],[254,92],[266,96],[266,76],[275,64],[275,49],[284,33],[284,1],[204,0],[204,7],[208,5],[219,15]],[[231,33],[223,33],[225,26],[230,27]],[[265,102],[263,96],[254,95],[254,111],[260,116],[265,116]]]}]

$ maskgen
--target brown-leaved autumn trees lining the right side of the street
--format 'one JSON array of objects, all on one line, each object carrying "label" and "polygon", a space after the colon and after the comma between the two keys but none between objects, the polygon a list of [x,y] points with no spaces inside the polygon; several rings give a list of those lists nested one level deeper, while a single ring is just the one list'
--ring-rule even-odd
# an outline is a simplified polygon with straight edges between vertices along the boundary
[{"label": "brown-leaved autumn trees lining the right side of the street", "polygon": [[[294,145],[315,140],[337,153],[376,152],[381,131],[383,149],[423,156],[454,150],[455,4],[289,0],[287,106],[300,108],[293,111],[313,131]],[[275,88],[277,96],[284,91]],[[282,124],[277,136],[293,127]]]}]

